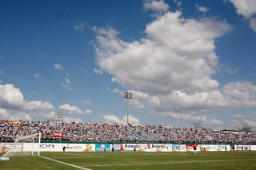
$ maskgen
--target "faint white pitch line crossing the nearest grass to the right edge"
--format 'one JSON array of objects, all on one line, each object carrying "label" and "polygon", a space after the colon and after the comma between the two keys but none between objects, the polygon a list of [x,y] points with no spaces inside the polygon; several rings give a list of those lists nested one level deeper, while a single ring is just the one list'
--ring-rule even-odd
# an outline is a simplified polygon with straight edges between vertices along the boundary
[{"label": "faint white pitch line crossing the nearest grass to the right edge", "polygon": [[[255,159],[254,159],[255,160]],[[230,162],[230,161],[251,161],[251,160],[192,160],[192,161],[179,161],[179,162],[162,162],[162,163],[150,163],[150,164],[132,164],[132,165],[154,165],[154,164],[190,164],[190,163],[205,163],[205,162]],[[95,164],[85,165],[82,167],[111,167],[111,166],[130,166],[131,164]]]}]

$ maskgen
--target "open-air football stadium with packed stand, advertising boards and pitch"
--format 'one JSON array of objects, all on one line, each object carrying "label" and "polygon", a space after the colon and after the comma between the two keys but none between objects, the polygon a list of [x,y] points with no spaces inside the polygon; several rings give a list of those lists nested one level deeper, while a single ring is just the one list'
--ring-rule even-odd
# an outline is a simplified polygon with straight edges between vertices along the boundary
[{"label": "open-air football stadium with packed stand, advertising boards and pitch", "polygon": [[1,161],[1,169],[255,167],[255,132],[163,125],[1,121],[0,134],[0,154],[2,159],[8,158]]}]

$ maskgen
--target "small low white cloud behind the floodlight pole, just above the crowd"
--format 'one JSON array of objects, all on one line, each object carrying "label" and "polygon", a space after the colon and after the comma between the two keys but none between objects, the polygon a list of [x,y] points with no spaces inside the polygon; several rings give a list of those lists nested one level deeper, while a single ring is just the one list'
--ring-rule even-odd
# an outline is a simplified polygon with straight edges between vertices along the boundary
[{"label": "small low white cloud behind the floodlight pole, just above the crowd", "polygon": [[[119,123],[119,124],[126,124],[127,123],[127,115],[125,117],[122,117],[122,120],[120,120],[118,117],[114,115],[106,114],[103,116],[106,123]],[[133,125],[139,125],[139,120],[136,117],[132,117],[129,115],[129,124]]]}]

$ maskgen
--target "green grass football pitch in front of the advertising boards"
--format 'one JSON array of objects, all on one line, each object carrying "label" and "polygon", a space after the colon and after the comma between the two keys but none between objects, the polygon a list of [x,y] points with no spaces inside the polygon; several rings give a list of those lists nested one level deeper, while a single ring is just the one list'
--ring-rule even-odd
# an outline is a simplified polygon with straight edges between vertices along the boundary
[{"label": "green grass football pitch in front of the advertising boards", "polygon": [[41,156],[10,157],[0,161],[0,169],[256,169],[256,152],[41,152]]}]

